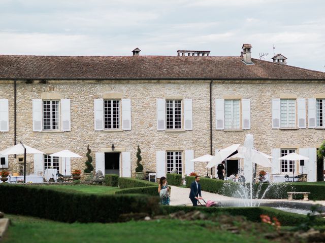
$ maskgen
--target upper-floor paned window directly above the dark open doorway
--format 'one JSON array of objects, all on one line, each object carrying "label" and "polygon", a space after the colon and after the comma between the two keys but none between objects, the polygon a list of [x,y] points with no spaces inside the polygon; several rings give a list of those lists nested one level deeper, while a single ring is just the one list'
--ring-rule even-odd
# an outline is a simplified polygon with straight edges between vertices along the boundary
[{"label": "upper-floor paned window directly above the dark open doorway", "polygon": [[104,129],[120,128],[120,101],[104,100]]}]

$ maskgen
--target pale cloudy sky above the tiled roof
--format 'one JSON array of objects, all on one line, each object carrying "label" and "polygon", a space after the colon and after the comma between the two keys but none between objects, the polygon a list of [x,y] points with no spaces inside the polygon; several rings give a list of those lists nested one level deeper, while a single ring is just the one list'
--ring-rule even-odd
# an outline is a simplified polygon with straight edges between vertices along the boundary
[{"label": "pale cloudy sky above the tiled roof", "polygon": [[1,0],[0,54],[286,56],[325,71],[323,0]]}]

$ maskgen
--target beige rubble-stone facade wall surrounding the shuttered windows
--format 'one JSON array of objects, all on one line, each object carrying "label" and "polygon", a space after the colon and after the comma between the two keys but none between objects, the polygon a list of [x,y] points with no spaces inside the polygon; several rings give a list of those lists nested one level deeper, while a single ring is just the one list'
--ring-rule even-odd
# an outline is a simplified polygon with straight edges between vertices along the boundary
[{"label": "beige rubble-stone facade wall surrounding the shuttered windows", "polygon": [[[156,151],[194,150],[194,157],[210,154],[210,81],[207,80],[38,80],[26,83],[17,81],[17,142],[43,151],[69,149],[84,158],[72,158],[71,170],[85,168],[87,144],[92,150],[93,166],[95,152],[116,148],[131,152],[131,172],[135,176],[137,145],[142,151],[144,171],[156,171]],[[58,94],[71,99],[71,131],[33,132],[32,99],[41,99],[43,94]],[[94,131],[93,99],[103,98],[107,93],[120,93],[131,99],[132,130],[106,132]],[[280,130],[271,128],[271,99],[281,94],[312,98],[325,93],[325,84],[316,81],[285,80],[233,80],[212,84],[212,132],[213,154],[215,149],[233,143],[243,144],[245,135],[254,136],[255,148],[271,154],[272,148],[318,147],[325,138],[322,129]],[[192,99],[193,130],[181,132],[157,131],[156,99],[164,97]],[[241,97],[250,99],[251,129],[215,130],[215,102],[217,98]],[[9,132],[1,133],[0,149],[14,145],[14,85],[13,80],[0,82],[0,98],[9,99]],[[307,109],[307,108],[306,108]],[[307,117],[307,115],[306,115]],[[184,156],[183,156],[184,157]],[[184,168],[183,159],[183,168]],[[206,163],[195,163],[194,171],[206,175]],[[34,171],[33,157],[27,157],[27,172]],[[9,156],[9,170],[17,171],[14,156]],[[185,171],[183,169],[183,171]],[[271,171],[269,170],[271,173]]]}]

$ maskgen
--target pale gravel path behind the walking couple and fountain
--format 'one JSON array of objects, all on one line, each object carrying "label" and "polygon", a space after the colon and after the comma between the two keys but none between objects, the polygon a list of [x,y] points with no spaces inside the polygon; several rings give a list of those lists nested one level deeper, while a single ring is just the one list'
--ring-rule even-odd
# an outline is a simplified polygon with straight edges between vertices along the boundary
[{"label": "pale gravel path behind the walking couple and fountain", "polygon": [[[179,205],[188,205],[191,206],[192,202],[188,198],[189,196],[189,188],[184,188],[184,187],[177,187],[177,186],[171,186],[172,187],[172,192],[171,192],[171,206],[179,206]],[[202,191],[202,197],[207,201],[207,200],[212,200],[212,201],[225,201],[225,200],[242,200],[234,197],[229,197],[229,196],[222,196],[220,194],[216,193],[210,193],[206,191]],[[287,199],[263,199],[263,201],[288,201]],[[294,200],[295,203],[308,203],[308,204],[321,204],[325,206],[325,200],[324,201],[303,201],[303,200]]]}]

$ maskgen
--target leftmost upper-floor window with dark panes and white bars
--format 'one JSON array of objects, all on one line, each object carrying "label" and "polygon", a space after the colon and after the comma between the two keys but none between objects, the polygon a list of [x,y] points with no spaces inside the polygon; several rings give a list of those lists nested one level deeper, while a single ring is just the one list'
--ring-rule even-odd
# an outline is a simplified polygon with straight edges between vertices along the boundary
[{"label": "leftmost upper-floor window with dark panes and white bars", "polygon": [[43,100],[43,130],[59,129],[59,101]]}]

